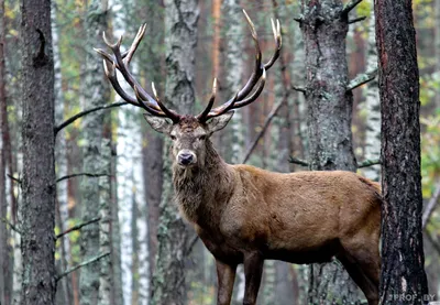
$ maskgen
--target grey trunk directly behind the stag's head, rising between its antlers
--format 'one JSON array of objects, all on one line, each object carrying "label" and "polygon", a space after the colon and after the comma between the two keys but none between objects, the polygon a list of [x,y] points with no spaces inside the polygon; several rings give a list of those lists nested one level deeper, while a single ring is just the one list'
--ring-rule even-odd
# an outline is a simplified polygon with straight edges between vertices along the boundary
[{"label": "grey trunk directly behind the stag's head, rising between its antlers", "polygon": [[[165,1],[166,90],[168,107],[179,113],[193,113],[195,104],[195,48],[197,44],[197,0]],[[185,304],[185,258],[188,229],[173,198],[170,141],[164,150],[164,194],[161,201],[158,249],[153,277],[152,304]]]}]

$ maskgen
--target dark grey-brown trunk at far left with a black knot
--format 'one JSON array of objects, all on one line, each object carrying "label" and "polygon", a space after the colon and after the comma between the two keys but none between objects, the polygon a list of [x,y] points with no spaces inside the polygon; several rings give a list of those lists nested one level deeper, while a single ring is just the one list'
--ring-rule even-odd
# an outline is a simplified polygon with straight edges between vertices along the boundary
[{"label": "dark grey-brown trunk at far left with a black knot", "polygon": [[55,303],[54,62],[51,1],[21,0],[22,305]]}]

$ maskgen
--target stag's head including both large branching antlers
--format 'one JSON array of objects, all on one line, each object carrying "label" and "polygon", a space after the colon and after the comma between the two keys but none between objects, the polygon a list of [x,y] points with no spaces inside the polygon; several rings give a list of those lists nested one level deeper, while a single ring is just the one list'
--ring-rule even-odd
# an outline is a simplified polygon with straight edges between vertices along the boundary
[{"label": "stag's head including both large branching antlers", "polygon": [[[179,166],[204,164],[206,142],[209,141],[209,137],[228,124],[229,120],[233,116],[233,109],[241,108],[256,100],[263,91],[266,70],[272,67],[279,56],[279,50],[282,47],[279,21],[277,20],[275,24],[272,20],[272,30],[276,48],[272,58],[266,64],[263,64],[255,26],[244,10],[243,13],[251,28],[252,39],[255,44],[256,54],[254,70],[244,87],[240,89],[234,97],[217,108],[212,108],[217,90],[217,80],[215,79],[208,106],[198,116],[179,115],[174,110],[168,109],[158,98],[154,84],[152,84],[154,95],[154,97],[152,97],[129,72],[132,56],[145,33],[145,24],[139,29],[131,47],[125,52],[121,52],[122,36],[116,44],[112,44],[107,40],[106,34],[103,34],[103,41],[113,54],[111,55],[102,50],[95,48],[95,51],[103,58],[106,75],[114,90],[127,102],[146,110],[145,119],[151,127],[154,130],[168,135],[173,140],[173,155],[175,162]],[[122,74],[125,81],[132,87],[135,97],[122,89],[118,81],[116,70],[119,70]]]}]

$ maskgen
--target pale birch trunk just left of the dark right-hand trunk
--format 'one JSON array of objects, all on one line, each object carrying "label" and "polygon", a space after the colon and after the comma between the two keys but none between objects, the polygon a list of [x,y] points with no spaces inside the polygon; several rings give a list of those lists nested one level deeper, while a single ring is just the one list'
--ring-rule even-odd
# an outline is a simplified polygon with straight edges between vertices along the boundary
[{"label": "pale birch trunk just left of the dark right-hand trunk", "polygon": [[[375,18],[374,18],[374,2],[372,4],[372,12],[369,23],[369,40],[367,40],[367,54],[366,54],[366,68],[374,70],[377,68],[377,48],[376,48],[376,33],[375,33]],[[366,115],[366,130],[365,130],[365,159],[378,160],[381,157],[381,100],[378,96],[377,79],[373,79],[366,86],[366,100],[365,108]],[[380,167],[369,166],[363,170],[365,177],[380,181]]]}]

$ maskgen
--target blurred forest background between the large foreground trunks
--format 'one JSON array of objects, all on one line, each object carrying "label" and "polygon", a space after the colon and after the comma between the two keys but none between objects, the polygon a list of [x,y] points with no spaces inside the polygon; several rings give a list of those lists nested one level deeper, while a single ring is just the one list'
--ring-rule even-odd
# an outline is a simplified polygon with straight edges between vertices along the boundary
[{"label": "blurred forest background between the large foreground trunks", "polygon": [[[2,1],[2,6],[0,44],[4,48],[4,62],[0,63],[6,72],[1,78],[6,100],[1,100],[1,115],[7,127],[2,139],[7,179],[0,185],[6,198],[1,201],[0,226],[7,235],[0,240],[3,262],[0,291],[3,298],[8,294],[11,302],[4,302],[8,305],[18,304],[21,290],[19,184],[23,166],[23,121],[20,8],[18,1]],[[213,77],[219,81],[218,100],[226,100],[252,70],[254,51],[241,8],[257,26],[265,58],[273,50],[270,19],[279,19],[283,25],[282,58],[268,73],[266,89],[260,99],[237,111],[229,127],[215,138],[220,154],[231,163],[245,161],[272,171],[307,170],[300,165],[308,160],[309,142],[302,87],[305,50],[299,23],[295,20],[300,15],[298,1],[212,0],[200,1],[198,7],[195,110],[201,110],[209,99]],[[358,163],[362,165],[377,163],[381,150],[377,83],[374,79],[355,81],[360,76],[372,79],[377,63],[372,7],[372,1],[364,0],[351,12],[346,37],[349,75],[353,79],[353,145]],[[165,91],[167,33],[162,1],[53,1],[52,9],[56,126],[82,110],[120,101],[105,80],[101,59],[92,50],[103,47],[100,36],[103,30],[111,39],[123,34],[128,46],[138,28],[146,23],[147,32],[132,70],[148,90],[150,81],[155,81],[160,91]],[[440,196],[440,1],[414,1],[414,17],[421,86],[422,190],[426,206],[433,207],[425,215],[426,272],[430,292],[440,295],[440,214],[435,209]],[[91,69],[98,73],[90,73]],[[86,286],[94,286],[94,273],[98,281],[103,276],[111,279],[112,288],[108,291],[111,304],[148,304],[160,242],[156,236],[157,229],[161,230],[162,184],[166,183],[161,178],[163,139],[146,126],[141,111],[134,107],[114,107],[96,113],[101,120],[98,132],[94,128],[89,131],[90,122],[96,120],[90,115],[92,119],[87,116],[78,119],[57,134],[56,264],[58,274],[64,276],[58,281],[56,304],[86,304],[81,292]],[[90,157],[89,144],[98,140],[100,154]],[[380,179],[380,165],[359,172]],[[75,226],[77,229],[65,233]],[[92,239],[94,228],[99,226],[107,232],[101,237],[108,239],[87,243],[89,236]],[[188,254],[184,262],[185,303],[215,304],[213,259],[190,229],[184,242]],[[66,272],[87,261],[91,263]],[[102,273],[100,265],[106,263],[109,269]],[[92,265],[95,271],[89,270]],[[91,282],[81,282],[80,272],[90,272]],[[237,304],[243,294],[241,274],[239,271]],[[307,276],[305,266],[267,261],[260,304],[304,304]]]}]

